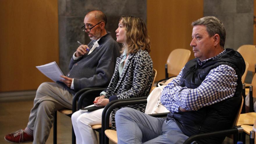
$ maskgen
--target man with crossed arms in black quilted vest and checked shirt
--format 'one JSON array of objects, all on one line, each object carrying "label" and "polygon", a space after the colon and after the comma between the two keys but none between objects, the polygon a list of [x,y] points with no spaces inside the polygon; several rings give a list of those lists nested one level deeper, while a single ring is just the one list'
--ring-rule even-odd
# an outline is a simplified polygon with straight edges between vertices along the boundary
[{"label": "man with crossed arms in black quilted vest and checked shirt", "polygon": [[[243,57],[224,49],[226,32],[216,17],[192,23],[195,59],[162,92],[161,102],[170,111],[167,119],[134,109],[116,115],[118,143],[183,143],[189,136],[229,129],[241,104]],[[225,137],[197,143],[222,143]]]}]

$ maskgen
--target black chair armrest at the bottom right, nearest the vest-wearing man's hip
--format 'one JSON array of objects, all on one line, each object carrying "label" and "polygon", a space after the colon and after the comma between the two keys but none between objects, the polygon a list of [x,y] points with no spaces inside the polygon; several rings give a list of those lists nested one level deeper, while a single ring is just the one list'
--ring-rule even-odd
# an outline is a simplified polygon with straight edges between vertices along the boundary
[{"label": "black chair armrest at the bottom right, nearest the vest-wearing man's hip", "polygon": [[235,127],[233,129],[226,129],[222,131],[214,131],[214,132],[209,132],[204,134],[195,134],[193,136],[190,136],[188,139],[186,139],[186,141],[183,144],[190,144],[197,139],[204,139],[204,138],[209,138],[214,136],[227,136],[230,134],[239,134],[242,132],[243,132],[242,127]]}]

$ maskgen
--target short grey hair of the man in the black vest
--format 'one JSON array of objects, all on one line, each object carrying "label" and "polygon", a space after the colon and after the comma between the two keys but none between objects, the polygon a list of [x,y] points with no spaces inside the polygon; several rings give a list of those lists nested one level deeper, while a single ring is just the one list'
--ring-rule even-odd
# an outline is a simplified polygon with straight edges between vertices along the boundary
[{"label": "short grey hair of the man in the black vest", "polygon": [[192,26],[204,25],[209,36],[212,37],[215,34],[220,36],[220,45],[224,48],[226,31],[222,22],[216,17],[202,17],[191,24]]}]

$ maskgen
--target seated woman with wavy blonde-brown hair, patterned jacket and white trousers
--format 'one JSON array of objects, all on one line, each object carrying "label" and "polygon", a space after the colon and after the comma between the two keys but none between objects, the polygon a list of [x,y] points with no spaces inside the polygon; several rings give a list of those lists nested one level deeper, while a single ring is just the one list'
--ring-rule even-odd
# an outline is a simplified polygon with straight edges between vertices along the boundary
[{"label": "seated woman with wavy blonde-brown hair, patterned jacket and white trousers", "polygon": [[[94,106],[106,106],[115,99],[148,96],[153,82],[153,63],[150,58],[150,40],[142,19],[122,16],[116,32],[116,41],[122,43],[122,55],[117,58],[115,71],[106,91],[95,98]],[[92,105],[93,106],[93,105]],[[140,106],[134,109],[143,110]],[[79,143],[97,143],[92,125],[101,124],[102,109],[91,112],[77,111],[72,115],[72,124]],[[112,127],[115,127],[112,112]]]}]

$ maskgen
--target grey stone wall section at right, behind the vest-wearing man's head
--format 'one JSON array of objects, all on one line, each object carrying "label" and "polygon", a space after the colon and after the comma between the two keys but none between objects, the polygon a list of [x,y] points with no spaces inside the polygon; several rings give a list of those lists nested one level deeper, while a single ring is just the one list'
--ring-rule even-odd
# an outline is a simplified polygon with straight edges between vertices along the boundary
[{"label": "grey stone wall section at right, behind the vest-wearing man's head", "polygon": [[225,48],[253,45],[253,4],[253,0],[204,0],[204,16],[215,16],[225,26]]}]

